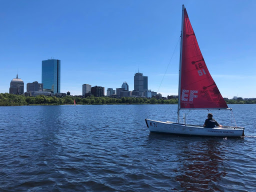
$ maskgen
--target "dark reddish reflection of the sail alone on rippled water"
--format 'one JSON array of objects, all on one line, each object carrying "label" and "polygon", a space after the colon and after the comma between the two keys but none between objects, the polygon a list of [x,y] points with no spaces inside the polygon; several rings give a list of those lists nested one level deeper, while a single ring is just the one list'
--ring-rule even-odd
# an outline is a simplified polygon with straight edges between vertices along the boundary
[{"label": "dark reddish reflection of the sail alone on rippled water", "polygon": [[218,150],[220,142],[206,140],[192,141],[182,147],[179,156],[180,165],[177,167],[176,181],[187,191],[220,191],[214,182],[218,182],[226,175],[222,167],[224,154]]}]

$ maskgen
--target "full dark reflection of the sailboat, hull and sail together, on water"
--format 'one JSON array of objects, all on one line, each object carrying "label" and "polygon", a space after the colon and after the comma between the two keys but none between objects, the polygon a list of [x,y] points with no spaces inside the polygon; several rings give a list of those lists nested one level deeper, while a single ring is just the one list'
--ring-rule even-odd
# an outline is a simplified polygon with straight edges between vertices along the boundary
[{"label": "full dark reflection of the sailboat, hull and sail together, on water", "polygon": [[219,150],[222,140],[150,133],[148,145],[154,144],[158,153],[171,154],[173,159],[168,159],[171,168],[169,182],[174,183],[171,190],[221,191],[215,183],[221,182],[227,174],[223,169],[225,154]]}]

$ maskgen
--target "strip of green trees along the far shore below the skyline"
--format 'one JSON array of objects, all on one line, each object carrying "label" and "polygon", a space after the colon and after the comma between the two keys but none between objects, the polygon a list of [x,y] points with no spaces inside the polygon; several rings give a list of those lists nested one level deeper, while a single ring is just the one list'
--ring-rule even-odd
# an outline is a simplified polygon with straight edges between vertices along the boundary
[{"label": "strip of green trees along the far shore below the skyline", "polygon": [[[177,104],[178,99],[156,99],[142,97],[121,97],[111,98],[107,96],[95,97],[87,96],[24,96],[9,93],[0,93],[0,106],[20,106],[20,105],[59,105],[59,104]],[[256,104],[256,100],[225,99],[227,104]]]}]

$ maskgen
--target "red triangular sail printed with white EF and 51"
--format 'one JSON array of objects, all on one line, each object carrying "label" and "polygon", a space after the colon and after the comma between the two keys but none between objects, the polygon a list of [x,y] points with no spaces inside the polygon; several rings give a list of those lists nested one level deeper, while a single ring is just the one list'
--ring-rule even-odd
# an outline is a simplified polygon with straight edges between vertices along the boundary
[{"label": "red triangular sail printed with white EF and 51", "polygon": [[184,8],[180,108],[227,108],[202,57]]}]

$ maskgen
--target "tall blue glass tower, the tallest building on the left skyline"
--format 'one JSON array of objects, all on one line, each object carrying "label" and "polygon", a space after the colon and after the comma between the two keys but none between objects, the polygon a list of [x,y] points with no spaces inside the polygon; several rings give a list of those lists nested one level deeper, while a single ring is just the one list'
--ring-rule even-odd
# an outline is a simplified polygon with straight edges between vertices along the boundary
[{"label": "tall blue glass tower, the tallest building on the left skyline", "polygon": [[43,91],[60,92],[60,60],[42,60]]}]

